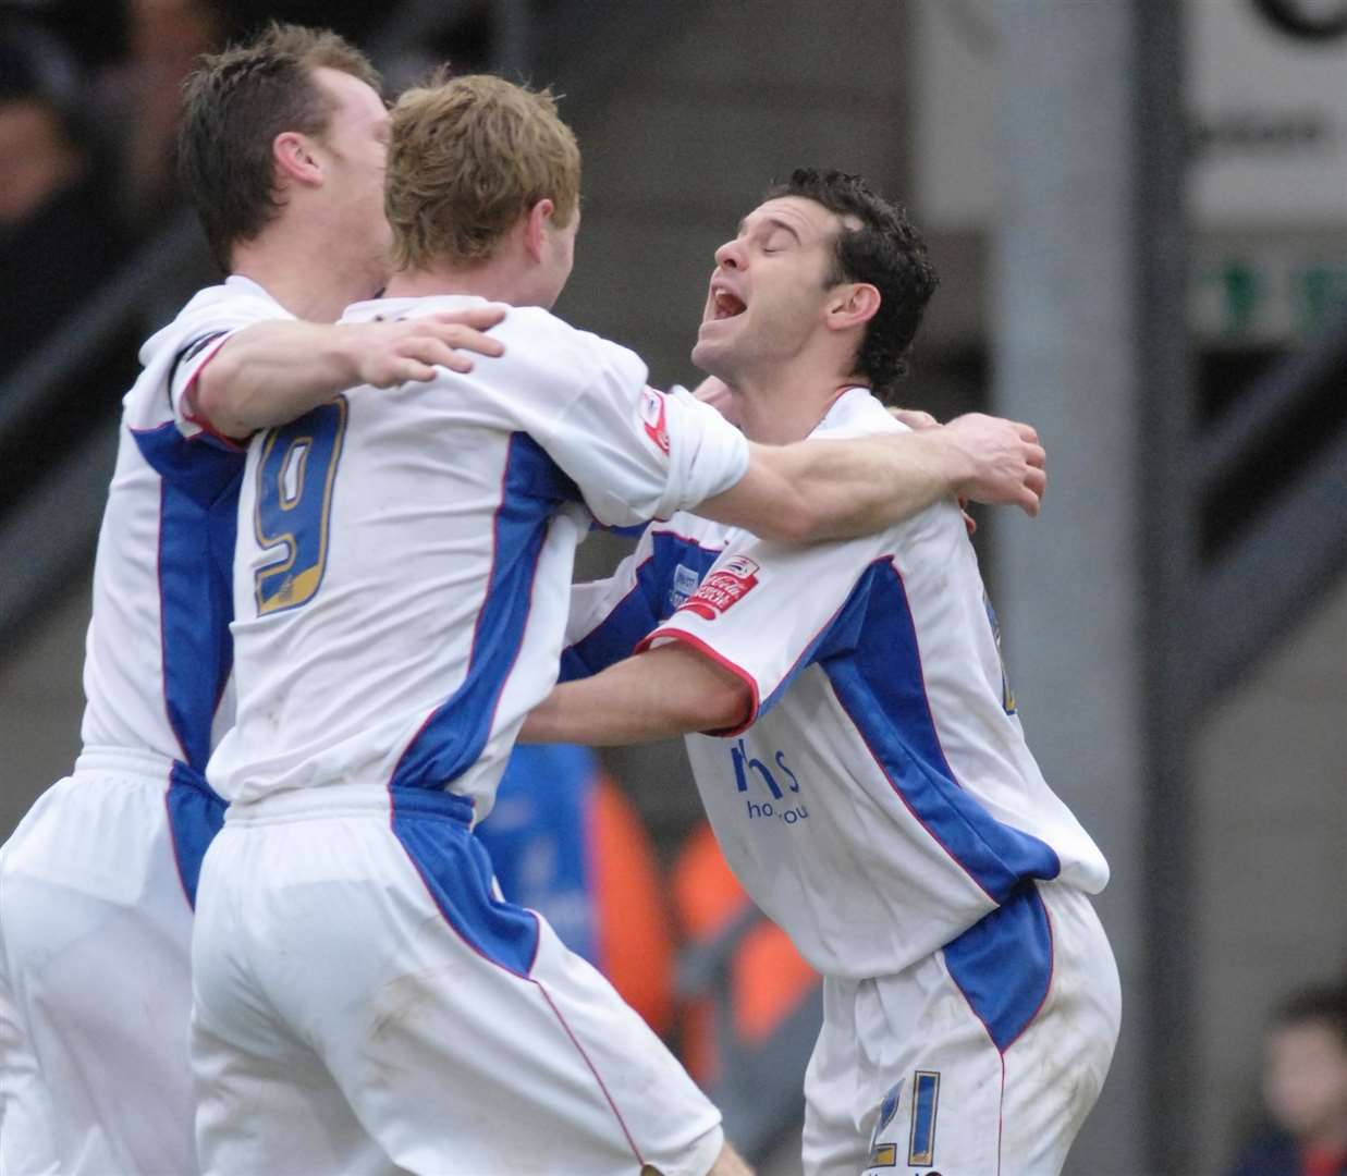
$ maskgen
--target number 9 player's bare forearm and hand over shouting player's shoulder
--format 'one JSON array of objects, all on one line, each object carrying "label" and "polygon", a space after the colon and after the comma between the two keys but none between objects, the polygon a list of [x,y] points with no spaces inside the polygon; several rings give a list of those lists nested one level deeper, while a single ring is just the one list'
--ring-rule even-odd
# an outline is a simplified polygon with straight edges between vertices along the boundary
[{"label": "number 9 player's bare forearm and hand over shouting player's shoulder", "polygon": [[1039,513],[1037,432],[973,414],[920,432],[750,447],[748,473],[695,513],[788,543],[867,535],[947,497]]}]

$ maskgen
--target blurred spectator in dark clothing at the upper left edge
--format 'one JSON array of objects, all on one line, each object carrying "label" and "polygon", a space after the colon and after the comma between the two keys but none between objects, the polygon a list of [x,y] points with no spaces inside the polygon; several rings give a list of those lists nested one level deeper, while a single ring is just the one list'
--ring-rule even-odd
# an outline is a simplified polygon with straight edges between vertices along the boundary
[{"label": "blurred spectator in dark clothing at the upper left edge", "polygon": [[0,34],[0,372],[15,368],[123,253],[82,78],[35,26]]}]

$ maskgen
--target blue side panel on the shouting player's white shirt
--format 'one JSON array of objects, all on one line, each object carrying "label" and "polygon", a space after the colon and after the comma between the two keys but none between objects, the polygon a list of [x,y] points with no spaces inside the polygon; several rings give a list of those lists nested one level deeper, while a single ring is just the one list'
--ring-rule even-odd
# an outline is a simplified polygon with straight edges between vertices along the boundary
[{"label": "blue side panel on the shouting player's white shirt", "polygon": [[1005,903],[1025,878],[1061,872],[1049,845],[1002,824],[959,787],[931,715],[907,591],[889,559],[870,564],[792,674],[810,661],[827,674],[893,789],[993,900]]}]

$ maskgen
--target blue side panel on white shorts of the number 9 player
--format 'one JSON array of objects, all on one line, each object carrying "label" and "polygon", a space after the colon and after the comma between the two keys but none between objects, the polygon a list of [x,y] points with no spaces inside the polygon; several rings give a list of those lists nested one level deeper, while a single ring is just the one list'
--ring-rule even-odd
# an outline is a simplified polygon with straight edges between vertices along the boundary
[{"label": "blue side panel on white shorts of the number 9 player", "polygon": [[492,893],[492,862],[471,832],[473,804],[451,792],[392,788],[392,828],[445,920],[492,963],[528,977],[537,916]]}]

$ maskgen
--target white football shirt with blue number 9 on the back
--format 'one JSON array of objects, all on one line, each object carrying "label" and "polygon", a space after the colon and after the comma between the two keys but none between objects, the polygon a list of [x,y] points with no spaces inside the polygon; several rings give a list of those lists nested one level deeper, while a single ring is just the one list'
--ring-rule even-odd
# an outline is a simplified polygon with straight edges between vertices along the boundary
[{"label": "white football shirt with blue number 9 on the back", "polygon": [[[358,303],[346,319],[481,304]],[[574,550],[748,467],[744,438],[630,352],[537,308],[469,374],[357,388],[253,439],[234,564],[238,711],[207,769],[230,802],[447,788],[490,810],[556,679]],[[587,509],[583,509],[587,508]]]}]

